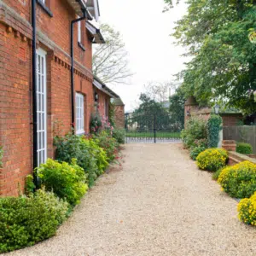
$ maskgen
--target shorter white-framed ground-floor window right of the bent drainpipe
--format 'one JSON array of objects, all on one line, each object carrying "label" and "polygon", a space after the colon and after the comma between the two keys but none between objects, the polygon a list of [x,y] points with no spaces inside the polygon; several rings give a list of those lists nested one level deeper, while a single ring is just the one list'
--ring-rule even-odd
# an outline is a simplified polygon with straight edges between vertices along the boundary
[{"label": "shorter white-framed ground-floor window right of the bent drainpipe", "polygon": [[76,134],[84,133],[84,94],[76,92]]}]

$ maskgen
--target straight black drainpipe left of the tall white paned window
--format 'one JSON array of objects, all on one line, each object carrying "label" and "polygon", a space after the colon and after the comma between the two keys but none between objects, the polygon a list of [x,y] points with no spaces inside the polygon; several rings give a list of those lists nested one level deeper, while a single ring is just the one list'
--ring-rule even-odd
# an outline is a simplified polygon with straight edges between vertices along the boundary
[{"label": "straight black drainpipe left of the tall white paned window", "polygon": [[[37,113],[37,14],[36,0],[32,0],[32,141],[33,170],[38,167],[38,113]],[[34,183],[38,188],[38,177],[33,172]]]}]

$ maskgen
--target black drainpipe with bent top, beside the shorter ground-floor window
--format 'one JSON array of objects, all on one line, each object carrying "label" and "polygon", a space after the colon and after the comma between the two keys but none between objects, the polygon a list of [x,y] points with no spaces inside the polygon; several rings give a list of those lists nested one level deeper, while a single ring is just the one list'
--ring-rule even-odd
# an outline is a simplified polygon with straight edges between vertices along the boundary
[{"label": "black drainpipe with bent top, beside the shorter ground-floor window", "polygon": [[71,51],[71,127],[73,128],[74,132],[74,122],[75,122],[75,113],[74,113],[74,79],[73,79],[73,25],[81,20],[85,20],[87,18],[87,10],[82,9],[83,11],[83,17],[72,20],[71,21],[71,45],[70,45],[70,51]]}]

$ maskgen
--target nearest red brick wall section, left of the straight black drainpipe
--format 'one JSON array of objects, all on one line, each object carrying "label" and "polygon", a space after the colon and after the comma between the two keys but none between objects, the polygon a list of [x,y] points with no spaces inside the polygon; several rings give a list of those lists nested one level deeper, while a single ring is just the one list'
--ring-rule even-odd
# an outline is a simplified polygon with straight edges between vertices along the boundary
[{"label": "nearest red brick wall section, left of the straight black drainpipe", "polygon": [[17,195],[32,171],[30,46],[0,23],[0,195]]}]

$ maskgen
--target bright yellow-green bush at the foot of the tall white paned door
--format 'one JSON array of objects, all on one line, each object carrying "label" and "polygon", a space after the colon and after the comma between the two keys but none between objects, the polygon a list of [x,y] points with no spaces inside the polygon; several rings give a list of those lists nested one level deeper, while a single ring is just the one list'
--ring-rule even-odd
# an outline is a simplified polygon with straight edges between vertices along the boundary
[{"label": "bright yellow-green bush at the foot of the tall white paned door", "polygon": [[46,190],[53,191],[72,206],[79,204],[88,189],[84,183],[84,169],[78,166],[74,159],[70,165],[67,162],[60,163],[49,159],[39,166],[36,172]]}]

